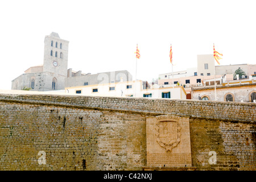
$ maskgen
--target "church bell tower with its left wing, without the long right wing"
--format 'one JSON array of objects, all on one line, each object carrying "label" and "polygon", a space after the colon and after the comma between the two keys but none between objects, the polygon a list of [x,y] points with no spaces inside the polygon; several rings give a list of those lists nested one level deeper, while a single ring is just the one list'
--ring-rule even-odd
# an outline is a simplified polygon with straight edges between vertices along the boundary
[{"label": "church bell tower with its left wing, without the long right wing", "polygon": [[44,38],[43,65],[28,68],[12,81],[11,89],[34,91],[64,90],[68,72],[68,40],[52,32]]}]

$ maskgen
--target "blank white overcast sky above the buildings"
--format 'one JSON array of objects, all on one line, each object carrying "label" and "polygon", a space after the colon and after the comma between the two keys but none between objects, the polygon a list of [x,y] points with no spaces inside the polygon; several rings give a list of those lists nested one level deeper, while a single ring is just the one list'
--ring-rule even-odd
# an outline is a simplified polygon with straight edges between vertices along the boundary
[{"label": "blank white overcast sky above the buildings", "polygon": [[[69,40],[68,68],[83,73],[126,69],[151,81],[197,67],[197,55],[223,53],[221,65],[256,64],[256,2],[0,1],[0,89],[27,68],[43,64],[44,36]],[[217,63],[216,63],[217,65]]]}]

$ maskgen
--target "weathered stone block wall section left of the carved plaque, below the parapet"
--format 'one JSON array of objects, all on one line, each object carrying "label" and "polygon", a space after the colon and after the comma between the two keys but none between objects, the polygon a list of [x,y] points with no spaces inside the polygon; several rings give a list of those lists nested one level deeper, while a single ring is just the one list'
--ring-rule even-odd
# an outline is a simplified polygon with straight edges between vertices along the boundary
[{"label": "weathered stone block wall section left of the carved plaque, below the parapet", "polygon": [[[1,169],[135,170],[146,162],[146,121],[140,114],[0,105]],[[46,152],[46,165],[39,165],[39,151]]]}]

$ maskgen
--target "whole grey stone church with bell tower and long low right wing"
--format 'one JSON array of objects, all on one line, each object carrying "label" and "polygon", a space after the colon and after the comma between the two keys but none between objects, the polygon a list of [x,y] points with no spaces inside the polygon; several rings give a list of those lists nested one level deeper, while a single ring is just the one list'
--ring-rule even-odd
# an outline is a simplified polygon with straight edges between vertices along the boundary
[{"label": "whole grey stone church with bell tower and long low right wing", "polygon": [[27,87],[34,91],[51,91],[64,90],[68,86],[98,84],[102,80],[106,82],[132,80],[131,74],[126,70],[92,75],[68,69],[68,44],[68,40],[60,39],[59,34],[55,32],[46,35],[43,65],[28,68],[25,73],[12,81],[11,89],[22,90]]}]

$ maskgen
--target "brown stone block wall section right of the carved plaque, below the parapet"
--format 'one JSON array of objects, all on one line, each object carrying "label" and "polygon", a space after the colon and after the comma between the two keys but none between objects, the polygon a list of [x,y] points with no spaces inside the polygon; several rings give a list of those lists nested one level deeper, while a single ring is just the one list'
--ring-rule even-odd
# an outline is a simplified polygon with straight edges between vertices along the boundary
[{"label": "brown stone block wall section right of the carved plaque, below the parapet", "polygon": [[[256,170],[255,123],[190,118],[192,164],[198,170]],[[209,153],[216,152],[216,164]]]}]

